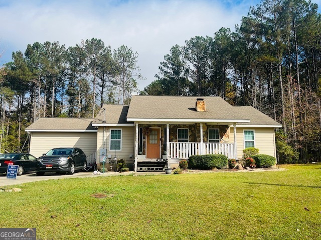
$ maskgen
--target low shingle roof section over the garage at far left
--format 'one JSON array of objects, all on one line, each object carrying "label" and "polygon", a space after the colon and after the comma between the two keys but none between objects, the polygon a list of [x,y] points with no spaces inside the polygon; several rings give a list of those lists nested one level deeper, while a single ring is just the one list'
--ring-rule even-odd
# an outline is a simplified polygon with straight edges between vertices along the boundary
[{"label": "low shingle roof section over the garage at far left", "polygon": [[91,122],[94,118],[41,117],[26,128],[33,130],[94,130]]}]

